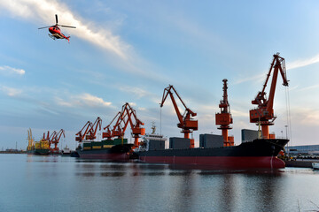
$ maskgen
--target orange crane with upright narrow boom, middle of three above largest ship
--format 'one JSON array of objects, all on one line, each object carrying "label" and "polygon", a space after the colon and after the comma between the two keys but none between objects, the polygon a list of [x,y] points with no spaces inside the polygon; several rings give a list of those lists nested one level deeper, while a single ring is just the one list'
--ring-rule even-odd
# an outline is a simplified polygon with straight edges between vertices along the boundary
[{"label": "orange crane with upright narrow boom, middle of three above largest ship", "polygon": [[228,102],[227,79],[222,79],[222,82],[223,95],[222,100],[219,104],[221,112],[215,114],[215,121],[216,125],[221,125],[220,127],[218,127],[218,129],[222,130],[222,137],[224,140],[223,146],[230,147],[234,146],[234,137],[228,135],[228,130],[232,129],[230,124],[233,123],[233,120],[230,113],[230,103]]}]

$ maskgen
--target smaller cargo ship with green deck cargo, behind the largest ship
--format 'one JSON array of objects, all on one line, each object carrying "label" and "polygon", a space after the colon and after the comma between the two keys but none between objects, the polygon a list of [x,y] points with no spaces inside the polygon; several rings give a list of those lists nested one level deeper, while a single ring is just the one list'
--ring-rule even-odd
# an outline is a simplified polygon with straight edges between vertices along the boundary
[{"label": "smaller cargo ship with green deck cargo, behind the largest ship", "polygon": [[133,144],[128,144],[127,139],[114,139],[102,141],[85,141],[76,152],[80,158],[84,159],[100,159],[113,162],[125,162],[132,155]]}]

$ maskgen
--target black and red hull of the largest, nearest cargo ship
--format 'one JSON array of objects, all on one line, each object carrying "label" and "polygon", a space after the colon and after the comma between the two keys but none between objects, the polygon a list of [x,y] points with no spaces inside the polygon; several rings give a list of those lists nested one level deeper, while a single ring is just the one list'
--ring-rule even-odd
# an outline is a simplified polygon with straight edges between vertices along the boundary
[{"label": "black and red hull of the largest, nearest cargo ship", "polygon": [[168,148],[137,151],[136,154],[144,163],[168,163],[212,169],[281,169],[285,164],[276,156],[288,141],[256,139],[232,147]]}]

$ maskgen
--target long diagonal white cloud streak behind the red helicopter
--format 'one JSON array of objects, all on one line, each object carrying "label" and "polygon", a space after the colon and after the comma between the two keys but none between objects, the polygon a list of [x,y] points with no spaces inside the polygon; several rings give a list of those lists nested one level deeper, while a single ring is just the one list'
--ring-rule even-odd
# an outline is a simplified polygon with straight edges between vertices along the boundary
[{"label": "long diagonal white cloud streak behind the red helicopter", "polygon": [[[75,26],[74,29],[67,29],[67,32],[73,32],[74,36],[81,38],[87,42],[91,42],[100,48],[107,49],[114,55],[126,59],[128,57],[128,49],[130,46],[121,41],[120,36],[114,35],[110,30],[97,30],[89,23],[84,23],[78,15],[70,11],[66,4],[55,0],[10,0],[0,1],[0,8],[10,11],[12,16],[22,19],[36,19],[44,25],[53,24],[55,14],[61,19],[63,25]],[[73,30],[73,31],[71,31]]]}]

